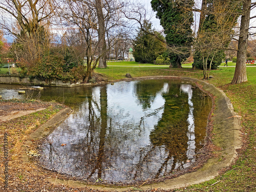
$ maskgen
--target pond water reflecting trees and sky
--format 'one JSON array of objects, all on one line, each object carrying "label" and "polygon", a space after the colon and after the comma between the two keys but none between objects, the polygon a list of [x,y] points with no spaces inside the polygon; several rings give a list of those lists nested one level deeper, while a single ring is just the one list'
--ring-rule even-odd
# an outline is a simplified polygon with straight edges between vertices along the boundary
[{"label": "pond water reflecting trees and sky", "polygon": [[46,87],[40,99],[74,109],[42,142],[40,163],[106,183],[157,179],[190,166],[203,146],[211,110],[208,95],[174,79]]}]

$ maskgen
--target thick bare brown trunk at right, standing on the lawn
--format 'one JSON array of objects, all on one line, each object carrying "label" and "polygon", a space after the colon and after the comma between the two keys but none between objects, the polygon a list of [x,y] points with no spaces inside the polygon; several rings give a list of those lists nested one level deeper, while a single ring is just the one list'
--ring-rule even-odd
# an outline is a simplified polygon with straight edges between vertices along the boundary
[{"label": "thick bare brown trunk at right, standing on the lawn", "polygon": [[248,29],[250,23],[251,0],[245,0],[243,3],[243,12],[241,17],[240,35],[238,41],[237,65],[234,71],[231,84],[239,84],[247,81],[246,76],[246,50],[248,42]]}]

